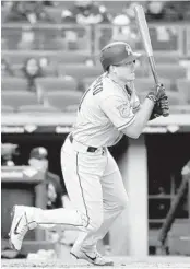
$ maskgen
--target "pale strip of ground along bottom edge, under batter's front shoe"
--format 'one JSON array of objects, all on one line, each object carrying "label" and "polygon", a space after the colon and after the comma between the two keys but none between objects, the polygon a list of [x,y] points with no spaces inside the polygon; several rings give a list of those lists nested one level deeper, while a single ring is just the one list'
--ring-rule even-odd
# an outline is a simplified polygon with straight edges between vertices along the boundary
[{"label": "pale strip of ground along bottom edge, under batter's front shoe", "polygon": [[[147,257],[141,260],[130,257],[112,257],[115,261],[114,267],[107,268],[128,268],[128,269],[183,269],[190,268],[190,257]],[[29,268],[91,268],[94,267],[86,261],[75,260],[71,258],[69,260],[64,259],[50,259],[50,260],[28,260],[28,259],[1,259],[1,268],[9,269],[29,269]],[[100,268],[100,267],[98,267]],[[105,268],[105,267],[104,267]]]}]

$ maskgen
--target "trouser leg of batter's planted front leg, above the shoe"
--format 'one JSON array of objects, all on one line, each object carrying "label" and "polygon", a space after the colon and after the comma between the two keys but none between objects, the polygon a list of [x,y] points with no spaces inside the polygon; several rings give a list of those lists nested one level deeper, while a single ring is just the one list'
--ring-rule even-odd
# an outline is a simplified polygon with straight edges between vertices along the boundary
[{"label": "trouser leg of batter's planted front leg, above the shoe", "polygon": [[128,196],[122,177],[114,157],[108,153],[108,163],[102,178],[104,222],[95,232],[80,233],[73,248],[95,250],[97,241],[104,238],[117,217],[124,210]]}]

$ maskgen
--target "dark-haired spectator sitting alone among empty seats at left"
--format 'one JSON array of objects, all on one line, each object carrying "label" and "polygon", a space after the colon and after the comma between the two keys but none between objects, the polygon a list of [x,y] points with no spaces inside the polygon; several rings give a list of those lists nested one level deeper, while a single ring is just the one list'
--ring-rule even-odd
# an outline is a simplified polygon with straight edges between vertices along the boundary
[{"label": "dark-haired spectator sitting alone among empty seats at left", "polygon": [[27,79],[27,90],[31,92],[36,92],[36,78],[45,77],[45,73],[43,72],[37,59],[27,58],[21,69],[21,72],[22,77]]}]

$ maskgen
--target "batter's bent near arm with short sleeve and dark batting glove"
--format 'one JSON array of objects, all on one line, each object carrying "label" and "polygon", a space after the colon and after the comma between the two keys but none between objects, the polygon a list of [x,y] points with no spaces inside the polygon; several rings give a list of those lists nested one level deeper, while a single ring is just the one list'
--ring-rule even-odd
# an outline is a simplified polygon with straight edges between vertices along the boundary
[{"label": "batter's bent near arm with short sleeve and dark batting glove", "polygon": [[153,90],[147,94],[135,114],[129,101],[120,95],[110,95],[104,100],[100,105],[102,109],[119,131],[136,139],[147,124],[155,103],[158,98],[165,96],[164,87],[157,86]]}]

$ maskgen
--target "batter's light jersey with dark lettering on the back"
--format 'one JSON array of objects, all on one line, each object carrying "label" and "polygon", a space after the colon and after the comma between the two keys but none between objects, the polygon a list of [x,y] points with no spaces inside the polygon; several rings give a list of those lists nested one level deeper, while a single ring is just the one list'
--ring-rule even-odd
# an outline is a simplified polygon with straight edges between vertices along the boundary
[{"label": "batter's light jersey with dark lettering on the back", "polygon": [[73,137],[91,147],[114,145],[123,136],[122,129],[133,122],[139,106],[135,92],[130,95],[105,72],[82,97]]}]

